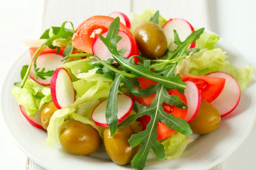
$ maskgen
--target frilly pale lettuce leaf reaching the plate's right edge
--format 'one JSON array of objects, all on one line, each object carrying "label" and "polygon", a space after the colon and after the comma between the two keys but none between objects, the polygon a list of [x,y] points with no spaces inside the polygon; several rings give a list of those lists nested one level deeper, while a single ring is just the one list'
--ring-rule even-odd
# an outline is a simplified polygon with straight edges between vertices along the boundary
[{"label": "frilly pale lettuce leaf reaching the plate's right edge", "polygon": [[233,76],[243,91],[253,77],[253,66],[236,68],[229,61],[221,48],[213,50],[202,49],[177,65],[176,72],[180,74],[206,75],[214,71],[223,71]]}]

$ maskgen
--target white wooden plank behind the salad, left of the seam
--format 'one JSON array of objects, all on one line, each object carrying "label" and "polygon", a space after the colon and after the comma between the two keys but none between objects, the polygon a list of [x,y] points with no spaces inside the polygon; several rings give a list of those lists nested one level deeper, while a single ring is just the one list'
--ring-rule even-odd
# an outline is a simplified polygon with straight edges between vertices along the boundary
[{"label": "white wooden plank behind the salad, left of the seam", "polygon": [[42,29],[61,26],[64,21],[78,26],[88,17],[108,15],[113,11],[129,15],[130,0],[45,0]]}]

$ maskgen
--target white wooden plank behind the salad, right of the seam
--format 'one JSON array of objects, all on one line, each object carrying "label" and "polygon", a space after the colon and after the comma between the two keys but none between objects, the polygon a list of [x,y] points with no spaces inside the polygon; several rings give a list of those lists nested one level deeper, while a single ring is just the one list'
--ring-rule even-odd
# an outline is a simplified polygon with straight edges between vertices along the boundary
[{"label": "white wooden plank behind the salad, right of the seam", "polygon": [[136,14],[151,8],[165,18],[182,18],[195,27],[208,27],[205,0],[133,0],[132,5]]}]

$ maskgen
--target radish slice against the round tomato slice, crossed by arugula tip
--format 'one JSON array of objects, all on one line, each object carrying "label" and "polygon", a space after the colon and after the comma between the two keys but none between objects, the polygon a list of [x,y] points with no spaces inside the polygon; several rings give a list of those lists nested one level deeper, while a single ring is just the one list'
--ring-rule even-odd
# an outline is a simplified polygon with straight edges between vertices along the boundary
[{"label": "radish slice against the round tomato slice, crossed by arugula tip", "polygon": [[[102,36],[106,37],[107,32],[103,33]],[[122,55],[122,57],[126,57],[129,58],[131,55],[131,40],[129,38],[129,36],[124,32],[124,31],[119,31],[118,35],[120,37],[122,37],[122,40],[120,40],[119,42],[117,42],[116,47],[117,50],[120,50],[124,47],[126,47],[126,50],[124,52],[124,54]],[[93,42],[93,55],[96,55],[97,57],[99,57],[102,60],[107,60],[112,57],[112,54],[109,52],[108,48],[106,47],[106,45],[102,42],[102,40],[99,39],[99,37],[97,37],[94,42]],[[114,62],[117,63],[117,62]]]}]

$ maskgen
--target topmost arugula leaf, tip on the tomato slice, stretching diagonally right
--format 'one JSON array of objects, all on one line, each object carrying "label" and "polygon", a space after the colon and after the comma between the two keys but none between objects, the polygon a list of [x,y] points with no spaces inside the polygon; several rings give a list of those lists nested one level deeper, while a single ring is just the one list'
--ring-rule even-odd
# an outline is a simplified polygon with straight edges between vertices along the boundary
[{"label": "topmost arugula leaf, tip on the tomato slice, stretching diagonally right", "polygon": [[100,34],[99,34],[99,38],[107,46],[113,58],[116,60],[116,62],[119,63],[119,65],[122,66],[122,68],[131,71],[132,73],[136,74],[139,77],[145,77],[147,79],[151,79],[155,82],[158,82],[164,85],[168,89],[174,89],[174,88],[185,89],[186,88],[186,84],[183,83],[181,79],[178,77],[163,77],[163,76],[152,73],[150,70],[150,60],[144,60],[143,65],[135,65],[130,61],[130,59],[127,59],[119,55],[116,49],[116,42],[119,37],[118,31],[116,30],[119,30],[119,23],[120,23],[120,19],[119,17],[116,17],[108,29],[108,34],[106,38],[104,38]]}]

